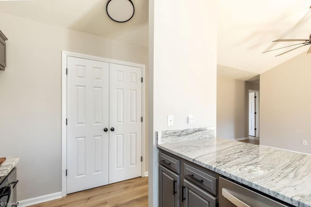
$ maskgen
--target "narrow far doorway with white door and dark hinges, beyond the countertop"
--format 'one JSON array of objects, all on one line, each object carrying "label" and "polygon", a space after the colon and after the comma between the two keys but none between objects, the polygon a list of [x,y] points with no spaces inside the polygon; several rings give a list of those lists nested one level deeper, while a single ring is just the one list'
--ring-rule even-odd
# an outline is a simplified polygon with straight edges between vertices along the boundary
[{"label": "narrow far doorway with white door and dark hinges, beyond the countertop", "polygon": [[259,137],[259,91],[248,90],[248,135]]}]

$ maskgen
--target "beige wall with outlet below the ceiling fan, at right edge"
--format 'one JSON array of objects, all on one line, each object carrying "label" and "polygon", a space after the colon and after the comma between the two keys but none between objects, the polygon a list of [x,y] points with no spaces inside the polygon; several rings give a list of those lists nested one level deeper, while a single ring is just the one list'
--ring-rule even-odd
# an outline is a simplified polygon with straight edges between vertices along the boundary
[{"label": "beige wall with outlet below the ceiling fan, at right edge", "polygon": [[260,144],[311,154],[310,79],[306,52],[260,75]]}]

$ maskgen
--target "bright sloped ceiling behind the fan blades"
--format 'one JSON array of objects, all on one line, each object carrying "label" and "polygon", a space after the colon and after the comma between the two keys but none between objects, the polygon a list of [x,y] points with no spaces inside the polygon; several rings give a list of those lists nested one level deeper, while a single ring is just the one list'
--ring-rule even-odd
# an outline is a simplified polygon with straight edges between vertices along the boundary
[{"label": "bright sloped ceiling behind the fan blades", "polygon": [[260,74],[307,51],[262,53],[297,43],[272,43],[276,39],[309,38],[310,6],[310,0],[218,0],[218,64]]}]

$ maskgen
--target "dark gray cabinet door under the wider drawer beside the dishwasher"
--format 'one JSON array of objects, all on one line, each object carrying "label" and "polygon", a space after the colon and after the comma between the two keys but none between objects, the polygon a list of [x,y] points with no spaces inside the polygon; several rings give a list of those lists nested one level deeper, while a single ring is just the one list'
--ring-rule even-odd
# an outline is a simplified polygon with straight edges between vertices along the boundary
[{"label": "dark gray cabinet door under the wider drawer beside the dishwasher", "polygon": [[216,207],[216,197],[186,179],[182,194],[184,207]]}]

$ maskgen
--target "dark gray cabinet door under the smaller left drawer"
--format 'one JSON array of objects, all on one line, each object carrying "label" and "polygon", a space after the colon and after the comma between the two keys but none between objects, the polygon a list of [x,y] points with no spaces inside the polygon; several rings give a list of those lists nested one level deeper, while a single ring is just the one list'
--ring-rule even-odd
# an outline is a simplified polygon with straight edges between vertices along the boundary
[{"label": "dark gray cabinet door under the smaller left drawer", "polygon": [[159,207],[179,207],[180,176],[159,165]]}]

